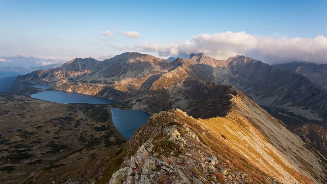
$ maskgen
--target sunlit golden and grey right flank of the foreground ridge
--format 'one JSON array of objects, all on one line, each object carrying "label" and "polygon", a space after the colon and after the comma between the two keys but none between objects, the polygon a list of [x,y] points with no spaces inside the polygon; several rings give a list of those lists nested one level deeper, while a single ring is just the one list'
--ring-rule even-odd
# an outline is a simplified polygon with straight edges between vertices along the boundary
[{"label": "sunlit golden and grey right flank of the foreground ridge", "polygon": [[283,183],[307,182],[303,175],[316,183],[315,178],[326,177],[325,157],[281,121],[240,92],[232,101],[233,108],[225,118],[199,121],[216,136],[224,136],[224,144]]}]

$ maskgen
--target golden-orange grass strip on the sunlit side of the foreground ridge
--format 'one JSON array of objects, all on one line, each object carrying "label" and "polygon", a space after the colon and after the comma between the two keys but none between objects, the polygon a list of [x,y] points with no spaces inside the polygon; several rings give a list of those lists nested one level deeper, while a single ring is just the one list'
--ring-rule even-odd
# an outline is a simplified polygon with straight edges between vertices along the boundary
[{"label": "golden-orange grass strip on the sunlit side of the foreground ridge", "polygon": [[[256,137],[261,142],[269,144],[265,137],[258,131],[247,119],[242,117],[237,112],[229,112],[226,118],[216,117],[210,119],[198,119],[199,125],[209,129],[211,133],[206,133],[206,136],[201,136],[206,144],[216,149],[219,153],[220,159],[227,159],[230,163],[229,167],[233,170],[241,170],[249,174],[254,181],[268,182],[265,175],[273,173],[276,178],[281,178],[283,175],[272,166],[256,149],[249,145],[247,140],[251,137]],[[197,130],[199,135],[203,130]],[[241,137],[246,137],[247,140]],[[281,159],[268,147],[262,148],[264,152],[273,158],[274,162],[278,164],[283,170],[287,171],[296,180],[303,181],[303,183],[310,183],[310,180],[303,174],[294,171],[286,166]],[[240,152],[241,151],[241,152]],[[240,156],[245,154],[248,158]],[[254,167],[256,166],[256,167]],[[260,168],[253,172],[253,168]],[[260,174],[258,174],[260,173]]]}]

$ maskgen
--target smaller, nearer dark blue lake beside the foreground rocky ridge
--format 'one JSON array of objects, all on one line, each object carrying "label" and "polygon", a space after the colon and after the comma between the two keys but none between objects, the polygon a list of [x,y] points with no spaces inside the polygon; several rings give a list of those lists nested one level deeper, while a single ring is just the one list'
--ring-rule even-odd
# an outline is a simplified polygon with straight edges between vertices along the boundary
[{"label": "smaller, nearer dark blue lake beside the foreground rocky ridge", "polygon": [[114,126],[126,139],[129,139],[150,117],[150,114],[141,110],[111,108],[111,113]]}]

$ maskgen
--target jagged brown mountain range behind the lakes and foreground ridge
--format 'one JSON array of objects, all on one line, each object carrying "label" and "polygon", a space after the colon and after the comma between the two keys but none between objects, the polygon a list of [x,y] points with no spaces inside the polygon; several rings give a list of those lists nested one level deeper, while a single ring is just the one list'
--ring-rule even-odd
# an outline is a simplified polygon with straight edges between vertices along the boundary
[{"label": "jagged brown mountain range behind the lakes and foreground ridge", "polygon": [[237,89],[327,152],[326,91],[300,74],[245,56],[216,60],[200,53],[171,62],[140,53],[101,62],[76,58],[53,70],[19,76],[11,90],[24,92],[26,84],[55,85],[150,113],[180,108],[199,118],[225,116],[229,94]]}]

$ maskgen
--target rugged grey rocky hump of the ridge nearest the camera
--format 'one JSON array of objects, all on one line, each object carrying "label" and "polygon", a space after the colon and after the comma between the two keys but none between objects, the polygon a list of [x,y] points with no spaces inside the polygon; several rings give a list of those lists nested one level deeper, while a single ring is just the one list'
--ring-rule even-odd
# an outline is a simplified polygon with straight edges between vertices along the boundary
[{"label": "rugged grey rocky hump of the ridge nearest the camera", "polygon": [[140,145],[136,153],[125,158],[109,183],[253,182],[247,173],[228,168],[212,154],[184,117],[187,114],[179,109],[151,116],[129,141],[129,153]]}]

